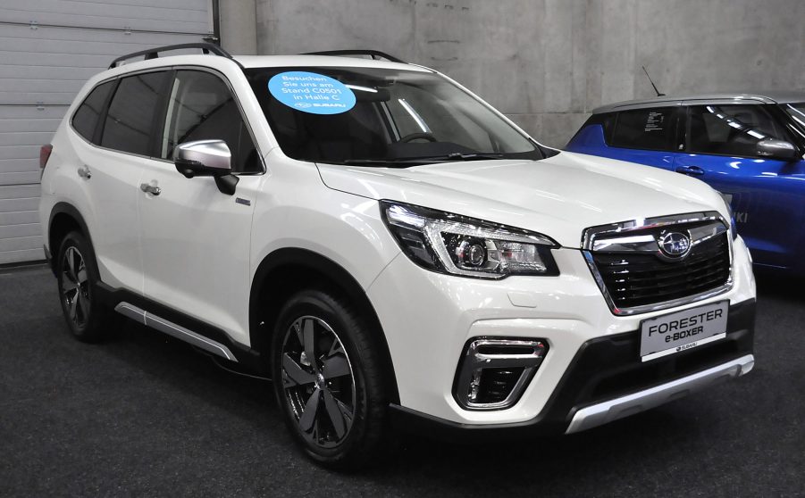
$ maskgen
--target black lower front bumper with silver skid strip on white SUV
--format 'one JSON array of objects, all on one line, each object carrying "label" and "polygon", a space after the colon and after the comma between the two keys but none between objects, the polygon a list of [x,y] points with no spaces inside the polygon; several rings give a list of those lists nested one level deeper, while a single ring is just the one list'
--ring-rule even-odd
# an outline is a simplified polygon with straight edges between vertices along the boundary
[{"label": "black lower front bumper with silver skid strip on white SUV", "polygon": [[640,361],[639,330],[584,343],[544,409],[533,419],[505,424],[467,424],[391,406],[395,426],[449,440],[574,433],[648,410],[754,365],[755,301],[730,307],[725,339],[655,361]]}]

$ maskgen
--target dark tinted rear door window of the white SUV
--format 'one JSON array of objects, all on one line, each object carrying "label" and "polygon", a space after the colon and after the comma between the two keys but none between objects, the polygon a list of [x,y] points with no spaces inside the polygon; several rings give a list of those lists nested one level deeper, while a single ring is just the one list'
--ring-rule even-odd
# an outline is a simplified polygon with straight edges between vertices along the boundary
[{"label": "dark tinted rear door window of the white SUV", "polygon": [[123,152],[150,155],[148,144],[165,72],[121,79],[109,104],[101,145]]}]

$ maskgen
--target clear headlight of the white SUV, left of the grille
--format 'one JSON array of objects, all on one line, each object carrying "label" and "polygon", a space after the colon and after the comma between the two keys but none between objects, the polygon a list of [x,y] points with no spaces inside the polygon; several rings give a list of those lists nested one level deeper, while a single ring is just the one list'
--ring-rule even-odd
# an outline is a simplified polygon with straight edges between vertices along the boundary
[{"label": "clear headlight of the white SUV, left of the grille", "polygon": [[449,212],[381,201],[383,220],[403,252],[428,270],[475,278],[559,274],[541,234]]}]

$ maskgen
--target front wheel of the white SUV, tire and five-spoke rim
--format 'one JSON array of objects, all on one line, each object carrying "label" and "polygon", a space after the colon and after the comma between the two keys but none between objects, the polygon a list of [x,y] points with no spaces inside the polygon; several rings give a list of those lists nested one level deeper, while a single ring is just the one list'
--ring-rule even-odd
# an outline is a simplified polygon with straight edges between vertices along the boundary
[{"label": "front wheel of the white SUV, tire and five-spoke rim", "polygon": [[274,394],[313,461],[353,470],[388,448],[382,371],[371,331],[348,302],[306,290],[285,303],[273,334]]}]

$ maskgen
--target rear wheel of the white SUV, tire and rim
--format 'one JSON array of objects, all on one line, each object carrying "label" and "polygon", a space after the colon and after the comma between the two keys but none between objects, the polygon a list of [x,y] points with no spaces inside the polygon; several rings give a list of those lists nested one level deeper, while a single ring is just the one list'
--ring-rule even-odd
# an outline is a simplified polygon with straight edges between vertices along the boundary
[{"label": "rear wheel of the white SUV, tire and rim", "polygon": [[103,339],[111,323],[110,313],[98,303],[95,253],[80,232],[70,232],[59,246],[56,280],[59,302],[67,327],[85,343]]}]

